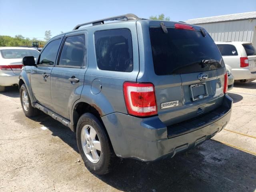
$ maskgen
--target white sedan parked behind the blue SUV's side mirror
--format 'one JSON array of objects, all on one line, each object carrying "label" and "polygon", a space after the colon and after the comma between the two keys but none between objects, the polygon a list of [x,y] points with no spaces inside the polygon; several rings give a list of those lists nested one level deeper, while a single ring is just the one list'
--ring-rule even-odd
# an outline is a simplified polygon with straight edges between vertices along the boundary
[{"label": "white sedan parked behind the blue SUV's side mirror", "polygon": [[22,58],[37,58],[38,54],[39,51],[34,48],[0,47],[0,92],[3,92],[6,86],[18,85]]}]

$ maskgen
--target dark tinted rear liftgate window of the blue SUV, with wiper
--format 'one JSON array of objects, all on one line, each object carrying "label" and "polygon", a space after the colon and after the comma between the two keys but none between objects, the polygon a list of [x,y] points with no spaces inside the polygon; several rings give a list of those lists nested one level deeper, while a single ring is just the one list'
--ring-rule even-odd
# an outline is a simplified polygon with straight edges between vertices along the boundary
[{"label": "dark tinted rear liftgate window of the blue SUV, with wiper", "polygon": [[[209,34],[199,31],[150,27],[154,70],[157,75],[204,72],[224,67],[222,56]],[[216,62],[203,62],[216,60]]]}]

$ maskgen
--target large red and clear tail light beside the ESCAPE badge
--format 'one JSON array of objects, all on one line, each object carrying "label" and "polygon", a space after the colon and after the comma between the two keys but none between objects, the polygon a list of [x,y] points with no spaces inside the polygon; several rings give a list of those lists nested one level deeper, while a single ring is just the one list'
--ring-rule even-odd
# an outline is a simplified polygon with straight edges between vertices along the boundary
[{"label": "large red and clear tail light beside the ESCAPE badge", "polygon": [[128,114],[134,116],[157,114],[155,88],[152,83],[124,82],[123,88]]}]

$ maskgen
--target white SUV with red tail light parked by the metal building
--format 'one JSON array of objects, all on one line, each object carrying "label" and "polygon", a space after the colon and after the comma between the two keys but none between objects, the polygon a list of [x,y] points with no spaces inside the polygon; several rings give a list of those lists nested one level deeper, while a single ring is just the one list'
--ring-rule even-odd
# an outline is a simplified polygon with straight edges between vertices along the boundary
[{"label": "white SUV with red tail light parked by the metal building", "polygon": [[234,80],[250,82],[256,78],[256,49],[250,42],[215,42],[226,68]]}]

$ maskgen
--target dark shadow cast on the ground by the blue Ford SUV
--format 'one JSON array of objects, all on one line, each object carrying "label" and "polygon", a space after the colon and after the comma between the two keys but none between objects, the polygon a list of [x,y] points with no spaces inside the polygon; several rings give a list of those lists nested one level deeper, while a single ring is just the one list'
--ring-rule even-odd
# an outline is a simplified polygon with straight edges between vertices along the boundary
[{"label": "dark shadow cast on the ground by the blue Ford SUV", "polygon": [[[76,136],[50,116],[41,114],[32,120],[46,126],[76,152]],[[123,159],[110,174],[96,176],[106,184],[125,192],[254,192],[256,156],[214,140],[157,162]]]}]

